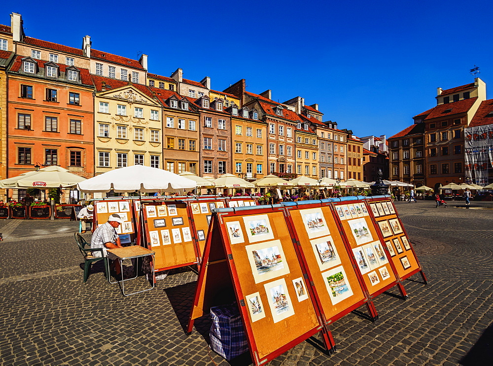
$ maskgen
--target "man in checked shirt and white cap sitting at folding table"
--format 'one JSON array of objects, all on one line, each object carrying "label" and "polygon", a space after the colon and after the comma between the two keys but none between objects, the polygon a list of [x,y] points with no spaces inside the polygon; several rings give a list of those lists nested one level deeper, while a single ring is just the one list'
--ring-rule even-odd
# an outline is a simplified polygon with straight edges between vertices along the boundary
[{"label": "man in checked shirt and white cap sitting at folding table", "polygon": [[[103,256],[107,256],[106,249],[123,248],[120,243],[120,237],[116,233],[115,228],[123,222],[120,215],[114,213],[108,217],[108,222],[99,226],[93,233],[91,238],[91,248],[103,248]],[[94,257],[100,257],[99,252],[93,252]],[[111,269],[116,270],[116,274],[121,273],[120,264],[118,261],[114,261],[111,264]]]}]

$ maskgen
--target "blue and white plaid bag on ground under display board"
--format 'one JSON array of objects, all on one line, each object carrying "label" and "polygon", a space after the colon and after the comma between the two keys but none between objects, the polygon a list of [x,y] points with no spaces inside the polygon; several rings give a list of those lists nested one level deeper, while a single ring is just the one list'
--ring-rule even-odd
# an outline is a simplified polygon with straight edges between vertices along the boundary
[{"label": "blue and white plaid bag on ground under display board", "polygon": [[226,360],[248,351],[240,310],[235,303],[211,307],[211,349]]}]

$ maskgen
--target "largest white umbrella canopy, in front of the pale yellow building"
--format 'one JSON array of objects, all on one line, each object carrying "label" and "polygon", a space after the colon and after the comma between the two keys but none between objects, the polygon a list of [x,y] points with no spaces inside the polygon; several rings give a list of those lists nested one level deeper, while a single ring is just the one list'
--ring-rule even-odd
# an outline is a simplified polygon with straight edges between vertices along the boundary
[{"label": "largest white umbrella canopy, in front of the pale yellow building", "polygon": [[77,185],[84,193],[95,192],[180,192],[194,189],[197,183],[167,170],[134,165],[107,171]]}]

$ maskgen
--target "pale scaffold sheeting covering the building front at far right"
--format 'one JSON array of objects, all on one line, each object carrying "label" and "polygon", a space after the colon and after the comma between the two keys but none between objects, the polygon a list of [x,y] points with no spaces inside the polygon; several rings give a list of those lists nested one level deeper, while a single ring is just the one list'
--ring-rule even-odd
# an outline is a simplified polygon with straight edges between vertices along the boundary
[{"label": "pale scaffold sheeting covering the building front at far right", "polygon": [[466,183],[486,186],[493,167],[493,125],[466,128],[464,137]]}]

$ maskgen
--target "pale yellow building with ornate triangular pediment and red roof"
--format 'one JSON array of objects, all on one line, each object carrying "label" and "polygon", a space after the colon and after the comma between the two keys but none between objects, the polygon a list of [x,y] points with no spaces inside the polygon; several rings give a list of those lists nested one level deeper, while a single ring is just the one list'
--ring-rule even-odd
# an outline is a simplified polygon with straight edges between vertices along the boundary
[{"label": "pale yellow building with ornate triangular pediment and red roof", "polygon": [[163,167],[162,108],[143,85],[92,76],[96,88],[95,172],[131,165]]}]

